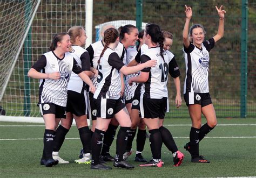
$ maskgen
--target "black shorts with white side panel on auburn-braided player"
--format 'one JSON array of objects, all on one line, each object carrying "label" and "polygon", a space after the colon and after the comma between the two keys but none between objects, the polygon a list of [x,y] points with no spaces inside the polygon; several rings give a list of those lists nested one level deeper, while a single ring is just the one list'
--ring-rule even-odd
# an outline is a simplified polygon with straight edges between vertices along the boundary
[{"label": "black shorts with white side panel on auburn-braided player", "polygon": [[98,97],[96,99],[97,117],[111,119],[120,110],[125,108],[125,104],[122,98],[119,99],[107,99]]}]

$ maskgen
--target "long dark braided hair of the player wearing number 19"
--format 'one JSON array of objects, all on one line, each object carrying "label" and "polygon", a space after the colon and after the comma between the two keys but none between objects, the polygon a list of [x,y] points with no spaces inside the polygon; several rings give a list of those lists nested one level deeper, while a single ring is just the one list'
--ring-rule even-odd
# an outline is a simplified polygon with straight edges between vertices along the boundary
[{"label": "long dark braided hair of the player wearing number 19", "polygon": [[159,44],[160,55],[164,59],[164,36],[160,27],[156,24],[147,24],[146,34],[150,35],[152,42]]}]

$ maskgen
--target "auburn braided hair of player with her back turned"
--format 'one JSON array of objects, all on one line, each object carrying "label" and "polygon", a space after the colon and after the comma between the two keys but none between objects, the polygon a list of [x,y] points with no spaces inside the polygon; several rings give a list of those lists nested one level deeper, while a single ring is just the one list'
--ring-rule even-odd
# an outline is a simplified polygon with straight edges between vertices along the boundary
[{"label": "auburn braided hair of player with her back turned", "polygon": [[106,51],[107,47],[109,46],[110,43],[113,43],[116,41],[118,38],[118,31],[117,29],[114,28],[109,28],[104,32],[104,39],[103,41],[105,42],[104,48],[102,50],[102,53],[99,56],[98,63],[100,61],[100,58],[102,58],[104,52]]}]

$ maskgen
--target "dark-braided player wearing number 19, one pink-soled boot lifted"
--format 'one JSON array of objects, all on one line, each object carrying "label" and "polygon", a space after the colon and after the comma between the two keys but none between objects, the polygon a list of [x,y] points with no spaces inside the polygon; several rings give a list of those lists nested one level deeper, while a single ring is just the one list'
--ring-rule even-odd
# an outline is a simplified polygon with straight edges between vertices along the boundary
[{"label": "dark-braided player wearing number 19, one pink-soled boot lifted", "polygon": [[[172,61],[173,55],[171,55],[170,52],[164,51],[164,37],[158,25],[147,24],[144,32],[144,38],[145,44],[149,49],[142,54],[140,60],[142,63],[150,60],[157,61],[158,66],[143,69],[140,76],[132,77],[129,83],[145,82],[143,85],[144,91],[140,95],[140,113],[150,132],[150,147],[153,159],[140,166],[161,167],[163,166],[163,161],[161,161],[161,144],[163,143],[163,140],[168,141],[167,143],[164,142],[165,144],[175,145],[171,134],[163,135],[162,131],[163,133],[167,133],[168,131],[163,127],[163,119],[167,109],[168,92],[166,84],[169,64],[172,70],[177,67],[177,63],[175,60]],[[173,74],[172,76],[174,77],[180,75],[179,70],[176,72],[173,71],[171,74]],[[177,163],[174,161],[174,166],[179,166],[184,155],[177,149],[173,156],[175,156],[175,160],[176,158],[178,160]]]}]

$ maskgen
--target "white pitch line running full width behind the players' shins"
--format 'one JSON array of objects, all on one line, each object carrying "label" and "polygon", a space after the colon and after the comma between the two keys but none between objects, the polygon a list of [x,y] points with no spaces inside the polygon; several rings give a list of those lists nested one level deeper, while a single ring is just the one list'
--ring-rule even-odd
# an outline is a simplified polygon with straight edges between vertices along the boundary
[{"label": "white pitch line running full width behind the players' shins", "polygon": [[[173,137],[175,139],[188,139],[189,137]],[[244,136],[244,137],[205,137],[205,138],[256,138],[256,136]],[[78,140],[80,138],[65,138],[66,140]],[[117,138],[114,138],[117,139]],[[134,138],[137,139],[137,138]],[[43,140],[42,138],[6,138],[1,140]]]}]

